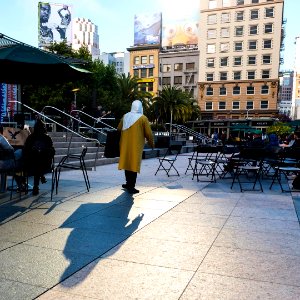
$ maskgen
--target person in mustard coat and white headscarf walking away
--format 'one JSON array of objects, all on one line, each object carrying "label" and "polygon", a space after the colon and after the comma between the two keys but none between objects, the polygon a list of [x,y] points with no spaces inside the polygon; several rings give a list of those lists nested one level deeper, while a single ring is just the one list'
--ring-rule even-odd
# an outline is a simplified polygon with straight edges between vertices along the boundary
[{"label": "person in mustard coat and white headscarf walking away", "polygon": [[125,170],[126,184],[122,187],[129,193],[139,193],[135,188],[137,173],[140,173],[145,140],[154,148],[154,139],[148,118],[143,115],[140,100],[134,100],[131,111],[121,119],[118,130],[120,137],[119,170]]}]

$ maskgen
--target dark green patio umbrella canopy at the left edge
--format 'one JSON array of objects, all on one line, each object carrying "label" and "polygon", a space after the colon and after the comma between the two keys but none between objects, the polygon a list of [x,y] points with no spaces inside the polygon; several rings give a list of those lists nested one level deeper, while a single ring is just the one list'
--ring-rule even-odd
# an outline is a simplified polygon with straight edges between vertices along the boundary
[{"label": "dark green patio umbrella canopy at the left edge", "polygon": [[76,81],[91,72],[67,58],[21,43],[0,33],[0,82],[49,84]]}]

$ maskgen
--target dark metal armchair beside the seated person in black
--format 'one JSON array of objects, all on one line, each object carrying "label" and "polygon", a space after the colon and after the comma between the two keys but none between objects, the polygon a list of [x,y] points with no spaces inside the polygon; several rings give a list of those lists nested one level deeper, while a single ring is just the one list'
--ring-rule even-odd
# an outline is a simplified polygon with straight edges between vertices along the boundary
[{"label": "dark metal armchair beside the seated person in black", "polygon": [[[81,170],[87,191],[89,192],[91,185],[90,185],[89,176],[84,161],[85,155],[87,153],[87,149],[88,148],[86,146],[83,146],[80,154],[67,154],[63,156],[60,162],[58,163],[58,165],[55,167],[54,176],[52,176],[52,187],[54,188],[55,186],[56,194],[58,190],[60,172],[62,169]],[[75,163],[76,161],[77,164]]]}]

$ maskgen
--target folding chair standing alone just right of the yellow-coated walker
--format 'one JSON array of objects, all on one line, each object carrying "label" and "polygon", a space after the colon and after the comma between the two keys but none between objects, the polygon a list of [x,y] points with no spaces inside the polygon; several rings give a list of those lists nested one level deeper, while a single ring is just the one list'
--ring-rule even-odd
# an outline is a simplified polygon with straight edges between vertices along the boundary
[{"label": "folding chair standing alone just right of the yellow-coated walker", "polygon": [[[158,173],[158,171],[165,171],[167,173],[167,176],[180,176],[178,170],[175,168],[174,164],[177,160],[178,154],[180,154],[182,149],[182,145],[175,144],[170,145],[167,149],[165,155],[163,157],[158,157],[159,166],[155,172],[155,175]],[[170,174],[171,170],[175,171],[176,174]]]}]

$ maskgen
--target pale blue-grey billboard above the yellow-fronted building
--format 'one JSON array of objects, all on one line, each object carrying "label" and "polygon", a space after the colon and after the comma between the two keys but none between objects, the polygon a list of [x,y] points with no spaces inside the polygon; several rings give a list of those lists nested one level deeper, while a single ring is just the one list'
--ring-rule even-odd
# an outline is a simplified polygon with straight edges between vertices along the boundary
[{"label": "pale blue-grey billboard above the yellow-fronted building", "polygon": [[134,46],[160,44],[161,13],[134,16]]}]

